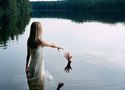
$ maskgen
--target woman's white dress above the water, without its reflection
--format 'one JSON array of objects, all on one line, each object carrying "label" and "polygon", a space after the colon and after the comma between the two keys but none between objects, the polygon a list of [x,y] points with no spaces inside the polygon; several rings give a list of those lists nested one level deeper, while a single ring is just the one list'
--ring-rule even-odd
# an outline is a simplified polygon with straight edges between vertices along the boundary
[{"label": "woman's white dress above the water, without its reflection", "polygon": [[29,80],[44,78],[43,47],[31,49],[31,60],[29,63]]}]

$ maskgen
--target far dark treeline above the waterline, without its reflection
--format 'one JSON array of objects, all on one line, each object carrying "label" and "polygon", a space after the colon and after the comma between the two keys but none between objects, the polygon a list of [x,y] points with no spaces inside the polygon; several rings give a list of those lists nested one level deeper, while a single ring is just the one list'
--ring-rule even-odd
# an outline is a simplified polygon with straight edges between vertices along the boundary
[{"label": "far dark treeline above the waterline, without its reflection", "polygon": [[33,10],[65,10],[65,11],[122,11],[125,0],[64,0],[31,2]]}]

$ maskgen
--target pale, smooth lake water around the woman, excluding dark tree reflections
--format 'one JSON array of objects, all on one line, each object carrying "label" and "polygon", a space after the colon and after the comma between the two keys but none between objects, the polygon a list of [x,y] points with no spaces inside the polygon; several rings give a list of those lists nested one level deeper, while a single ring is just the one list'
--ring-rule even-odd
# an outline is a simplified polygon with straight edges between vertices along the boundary
[{"label": "pale, smooth lake water around the woman, excluding dark tree reflections", "polygon": [[[24,32],[0,43],[0,90],[28,90],[25,74],[30,25],[39,21],[43,38],[72,53],[72,70],[64,71],[64,52],[44,48],[45,90],[124,90],[125,24],[68,19],[31,18]],[[51,80],[48,78],[51,77]]]}]

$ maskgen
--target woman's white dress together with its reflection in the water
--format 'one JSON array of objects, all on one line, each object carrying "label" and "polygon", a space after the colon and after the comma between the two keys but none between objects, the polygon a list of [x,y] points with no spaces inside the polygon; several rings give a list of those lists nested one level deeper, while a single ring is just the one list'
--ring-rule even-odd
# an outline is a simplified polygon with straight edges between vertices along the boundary
[{"label": "woman's white dress together with its reflection in the water", "polygon": [[43,47],[31,49],[31,60],[29,63],[29,90],[44,90],[44,59]]}]

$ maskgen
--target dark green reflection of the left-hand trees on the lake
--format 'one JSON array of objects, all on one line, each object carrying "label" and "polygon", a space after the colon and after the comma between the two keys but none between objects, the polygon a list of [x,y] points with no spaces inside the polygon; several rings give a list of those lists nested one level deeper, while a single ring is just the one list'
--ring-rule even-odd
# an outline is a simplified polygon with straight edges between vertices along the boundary
[{"label": "dark green reflection of the left-hand trees on the lake", "polygon": [[11,40],[18,40],[19,34],[25,30],[30,16],[23,14],[4,14],[0,17],[0,47],[6,48],[7,43]]}]

